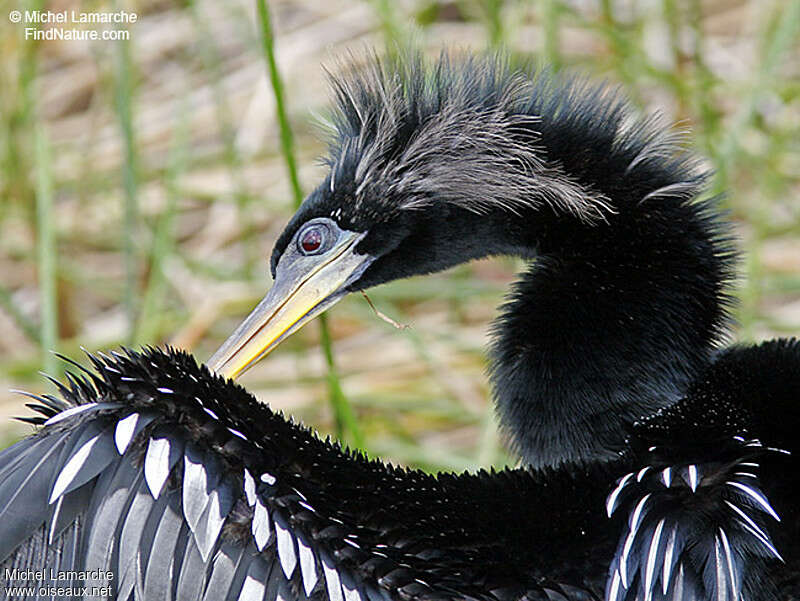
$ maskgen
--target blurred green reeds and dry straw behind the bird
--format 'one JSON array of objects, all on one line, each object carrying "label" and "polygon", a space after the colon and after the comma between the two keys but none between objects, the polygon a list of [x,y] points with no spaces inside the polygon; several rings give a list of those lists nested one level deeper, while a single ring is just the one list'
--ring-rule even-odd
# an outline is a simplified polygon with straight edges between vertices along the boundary
[{"label": "blurred green reeds and dry straw behind the bird", "polygon": [[[50,349],[79,361],[81,347],[214,351],[270,285],[298,189],[322,177],[323,65],[398,43],[505,46],[622,85],[689,128],[746,253],[737,337],[800,334],[797,0],[19,4],[0,3],[0,447],[30,431],[9,389],[51,392],[39,371],[63,373]],[[137,19],[117,26],[127,41],[34,41],[9,18],[25,9]],[[513,463],[484,347],[520,267],[486,260],[372,291],[406,329],[354,295],[331,311],[329,345],[312,324],[242,383],[372,455],[430,470]]]}]

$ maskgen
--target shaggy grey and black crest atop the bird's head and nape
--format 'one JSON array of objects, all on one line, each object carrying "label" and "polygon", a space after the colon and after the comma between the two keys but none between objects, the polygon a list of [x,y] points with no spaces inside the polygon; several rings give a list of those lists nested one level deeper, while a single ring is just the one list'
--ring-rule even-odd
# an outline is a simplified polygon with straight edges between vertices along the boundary
[{"label": "shaggy grey and black crest atop the bird's head and nape", "polygon": [[304,219],[361,231],[447,203],[479,214],[548,205],[593,222],[618,210],[623,189],[686,197],[705,180],[680,132],[638,116],[608,85],[502,54],[371,57],[340,72],[330,174]]}]

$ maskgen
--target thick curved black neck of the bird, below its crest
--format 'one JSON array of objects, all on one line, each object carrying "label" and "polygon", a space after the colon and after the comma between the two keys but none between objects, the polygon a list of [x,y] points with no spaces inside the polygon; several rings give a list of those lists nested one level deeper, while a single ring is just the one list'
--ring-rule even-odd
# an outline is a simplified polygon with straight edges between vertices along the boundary
[{"label": "thick curved black neck of the bird, below its crest", "polygon": [[539,212],[509,241],[537,260],[495,323],[490,373],[501,426],[534,467],[613,460],[725,328],[733,255],[713,207],[617,206],[593,225]]}]

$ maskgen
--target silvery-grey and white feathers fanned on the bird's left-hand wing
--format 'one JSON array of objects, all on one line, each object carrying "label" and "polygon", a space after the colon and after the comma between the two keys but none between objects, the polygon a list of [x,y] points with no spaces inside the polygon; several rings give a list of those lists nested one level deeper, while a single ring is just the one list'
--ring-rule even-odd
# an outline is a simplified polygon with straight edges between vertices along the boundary
[{"label": "silvery-grey and white feathers fanned on the bird's left-hand wing", "polygon": [[[221,425],[218,399],[194,390],[194,413],[156,404],[177,395],[123,375],[121,361],[95,359],[102,378],[61,387],[79,404],[38,398],[43,417],[28,421],[42,430],[0,453],[0,573],[19,587],[10,598],[389,599],[342,567],[340,545],[328,544],[335,522],[315,519],[279,470],[260,469],[279,467],[271,449],[243,467],[262,449]],[[120,403],[120,392],[139,398]]]}]

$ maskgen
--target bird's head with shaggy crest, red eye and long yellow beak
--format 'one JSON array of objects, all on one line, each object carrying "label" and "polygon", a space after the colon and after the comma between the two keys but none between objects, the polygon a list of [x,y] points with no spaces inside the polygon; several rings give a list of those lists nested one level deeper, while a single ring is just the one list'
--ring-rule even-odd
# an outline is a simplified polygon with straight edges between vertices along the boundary
[{"label": "bird's head with shaggy crest, red eye and long yellow beak", "polygon": [[[447,53],[432,64],[372,58],[331,82],[329,171],[275,245],[273,287],[209,361],[223,375],[238,376],[349,292],[483,256],[529,256],[532,223],[613,213],[597,174],[581,172],[598,165],[571,148],[595,119],[611,123],[596,137],[613,155],[621,116],[613,101],[592,102],[600,88],[576,94],[503,56]],[[543,128],[557,139],[564,118],[573,122],[546,147]]]}]

